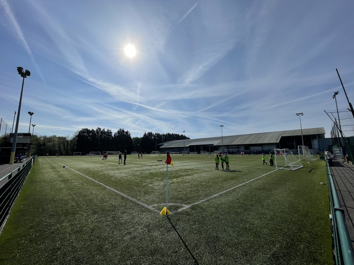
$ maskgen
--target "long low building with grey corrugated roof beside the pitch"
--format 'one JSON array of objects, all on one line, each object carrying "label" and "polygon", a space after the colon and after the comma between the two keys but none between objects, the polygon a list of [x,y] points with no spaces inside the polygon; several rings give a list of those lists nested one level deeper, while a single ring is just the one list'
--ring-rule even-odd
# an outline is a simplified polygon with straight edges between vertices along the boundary
[{"label": "long low building with grey corrugated roof beside the pitch", "polygon": [[[160,151],[189,153],[223,152],[269,152],[275,148],[290,149],[297,153],[298,146],[308,146],[313,152],[323,151],[332,145],[330,138],[325,138],[325,128],[309,128],[268,133],[226,135],[199,139],[185,139],[159,143]],[[302,144],[303,139],[303,144]]]}]

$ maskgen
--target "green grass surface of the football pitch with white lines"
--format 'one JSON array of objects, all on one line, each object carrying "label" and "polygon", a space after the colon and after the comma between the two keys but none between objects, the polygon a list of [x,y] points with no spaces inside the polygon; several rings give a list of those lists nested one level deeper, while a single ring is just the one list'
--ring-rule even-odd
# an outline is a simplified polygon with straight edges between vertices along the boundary
[{"label": "green grass surface of the football pitch with white lines", "polygon": [[[217,171],[213,155],[171,157],[170,220],[199,264],[333,264],[324,161],[274,171],[261,155],[234,155]],[[0,235],[0,263],[195,264],[159,214],[165,160],[39,157]]]}]

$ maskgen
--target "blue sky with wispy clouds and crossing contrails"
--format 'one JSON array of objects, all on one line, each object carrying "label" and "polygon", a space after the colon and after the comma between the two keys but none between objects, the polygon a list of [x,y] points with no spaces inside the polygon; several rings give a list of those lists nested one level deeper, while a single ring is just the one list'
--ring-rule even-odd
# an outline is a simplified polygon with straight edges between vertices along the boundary
[{"label": "blue sky with wispy clouds and crossing contrails", "polygon": [[[347,0],[0,0],[0,134],[18,112],[21,66],[31,76],[19,133],[194,139],[300,129],[301,112],[303,129],[330,137],[334,92],[349,108],[336,69],[354,104],[353,10]],[[353,135],[353,116],[339,117]]]}]

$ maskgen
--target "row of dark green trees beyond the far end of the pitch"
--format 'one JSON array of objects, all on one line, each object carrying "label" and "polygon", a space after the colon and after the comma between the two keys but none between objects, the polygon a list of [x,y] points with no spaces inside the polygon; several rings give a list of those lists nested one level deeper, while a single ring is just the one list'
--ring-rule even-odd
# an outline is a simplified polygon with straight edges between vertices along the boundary
[{"label": "row of dark green trees beyond the far end of the pitch", "polygon": [[[88,154],[89,152],[103,151],[132,151],[150,153],[158,151],[158,144],[172,140],[183,140],[183,134],[160,134],[148,132],[142,137],[131,137],[130,132],[119,129],[115,133],[110,129],[83,128],[77,131],[73,136],[36,136],[33,135],[31,142],[31,152],[38,155],[49,153],[54,155],[72,155],[73,152],[81,152]],[[8,142],[10,135],[0,137],[0,146],[10,146]],[[185,137],[184,139],[190,139]]]}]

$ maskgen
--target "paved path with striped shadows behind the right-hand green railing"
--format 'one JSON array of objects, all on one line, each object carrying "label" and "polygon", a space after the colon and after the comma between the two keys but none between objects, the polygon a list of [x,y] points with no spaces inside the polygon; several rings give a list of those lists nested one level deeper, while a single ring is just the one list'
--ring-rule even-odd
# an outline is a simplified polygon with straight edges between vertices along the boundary
[{"label": "paved path with striped shadows behind the right-hand green railing", "polygon": [[330,169],[354,248],[354,165],[341,161],[333,159],[334,166]]}]

